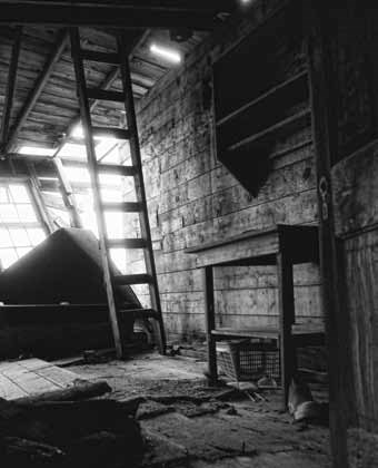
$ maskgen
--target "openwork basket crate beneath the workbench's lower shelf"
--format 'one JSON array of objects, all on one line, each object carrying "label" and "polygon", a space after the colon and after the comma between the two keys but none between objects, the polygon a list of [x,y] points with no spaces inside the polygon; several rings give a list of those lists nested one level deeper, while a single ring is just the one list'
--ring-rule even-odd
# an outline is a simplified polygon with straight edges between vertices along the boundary
[{"label": "openwork basket crate beneath the workbench's lower shelf", "polygon": [[219,369],[230,379],[258,380],[263,376],[280,382],[279,350],[273,342],[250,340],[217,343]]}]

